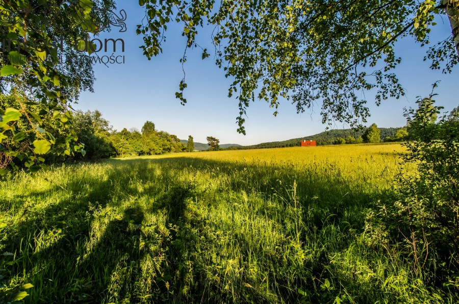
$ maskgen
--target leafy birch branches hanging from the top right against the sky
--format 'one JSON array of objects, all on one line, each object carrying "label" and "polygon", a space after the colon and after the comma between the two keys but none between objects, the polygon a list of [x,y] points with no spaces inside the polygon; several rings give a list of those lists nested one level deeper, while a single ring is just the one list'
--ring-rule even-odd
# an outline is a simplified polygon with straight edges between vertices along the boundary
[{"label": "leafy birch branches hanging from the top right against the sky", "polygon": [[[324,123],[333,120],[357,126],[369,116],[362,94],[374,89],[376,104],[404,95],[392,70],[400,63],[394,51],[399,39],[412,36],[421,45],[430,44],[429,32],[436,15],[447,15],[452,35],[430,46],[424,60],[432,69],[451,71],[459,52],[459,1],[291,0],[214,1],[140,0],[146,22],[144,55],[150,59],[162,52],[167,25],[183,23],[186,47],[196,42],[199,27],[214,27],[216,64],[234,79],[228,95],[237,94],[238,131],[245,134],[243,116],[256,97],[266,100],[277,114],[279,97],[285,97],[304,112],[321,103]],[[186,52],[186,51],[185,51]],[[202,58],[209,57],[203,48]],[[182,63],[185,56],[181,59]],[[186,103],[185,78],[176,97]]]}]

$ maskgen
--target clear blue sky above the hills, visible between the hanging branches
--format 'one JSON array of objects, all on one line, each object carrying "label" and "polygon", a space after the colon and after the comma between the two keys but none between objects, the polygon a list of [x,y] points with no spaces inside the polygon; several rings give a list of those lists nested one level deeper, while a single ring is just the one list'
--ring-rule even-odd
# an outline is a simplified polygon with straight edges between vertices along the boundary
[{"label": "clear blue sky above the hills, visible between the hanging branches", "polygon": [[[175,92],[179,87],[183,72],[179,59],[185,49],[185,38],[181,36],[181,26],[170,23],[163,44],[163,54],[150,61],[142,54],[139,46],[143,40],[135,33],[136,25],[144,16],[144,11],[137,2],[118,1],[117,10],[127,13],[127,31],[120,33],[113,28],[110,33],[102,33],[98,38],[121,38],[125,43],[124,53],[117,49],[115,56],[124,56],[124,64],[95,64],[96,82],[94,93],[83,92],[75,109],[99,110],[118,131],[127,128],[141,129],[146,120],[153,121],[156,129],[177,135],[180,139],[194,137],[195,142],[207,142],[207,136],[220,139],[220,143],[257,144],[268,141],[280,141],[323,132],[320,108],[312,113],[297,114],[289,102],[281,102],[277,117],[273,109],[263,101],[250,105],[247,111],[247,135],[238,134],[236,117],[238,103],[235,98],[228,98],[228,87],[232,83],[224,77],[210,58],[201,60],[201,50],[187,51],[188,62],[185,65],[188,88],[184,95],[187,105],[181,106]],[[438,25],[431,33],[431,41],[438,37],[446,38],[451,28],[447,18],[437,18]],[[201,46],[212,50],[210,29],[201,30],[198,37]],[[416,97],[426,96],[431,91],[431,84],[441,81],[436,92],[437,105],[452,110],[459,104],[457,86],[459,85],[459,67],[453,73],[444,75],[440,71],[431,71],[427,62],[423,62],[425,47],[421,48],[412,40],[404,39],[396,45],[398,56],[402,57],[396,73],[405,88],[406,96],[402,99],[386,100],[379,107],[372,103],[373,96],[367,94],[371,117],[368,124],[376,123],[380,127],[396,127],[405,124],[404,107],[415,107]],[[99,52],[99,56],[112,55]],[[348,128],[337,124],[334,129]]]}]

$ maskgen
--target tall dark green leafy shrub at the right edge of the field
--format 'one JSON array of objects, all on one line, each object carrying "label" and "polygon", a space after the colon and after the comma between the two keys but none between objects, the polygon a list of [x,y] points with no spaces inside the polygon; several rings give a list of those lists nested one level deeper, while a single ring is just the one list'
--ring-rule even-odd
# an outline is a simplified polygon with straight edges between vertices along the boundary
[{"label": "tall dark green leafy shrub at the right edge of the field", "polygon": [[379,203],[368,230],[370,238],[409,261],[413,279],[457,295],[459,123],[447,116],[435,123],[442,108],[433,96],[419,98],[417,110],[405,111],[413,141],[404,144],[402,159],[416,171],[398,176],[395,199]]}]

